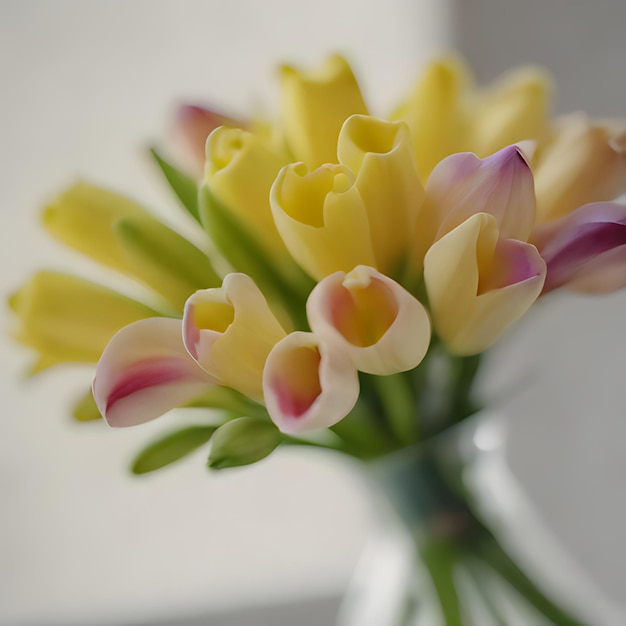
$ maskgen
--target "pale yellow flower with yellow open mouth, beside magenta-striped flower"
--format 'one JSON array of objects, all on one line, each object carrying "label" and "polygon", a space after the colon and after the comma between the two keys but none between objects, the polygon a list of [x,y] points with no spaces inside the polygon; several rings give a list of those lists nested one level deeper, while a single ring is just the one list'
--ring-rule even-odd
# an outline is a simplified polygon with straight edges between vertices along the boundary
[{"label": "pale yellow flower with yellow open mouth, beside magenta-striped flower", "polygon": [[263,400],[263,367],[285,331],[265,296],[245,274],[229,274],[221,288],[193,294],[185,305],[183,338],[198,364],[220,384]]}]

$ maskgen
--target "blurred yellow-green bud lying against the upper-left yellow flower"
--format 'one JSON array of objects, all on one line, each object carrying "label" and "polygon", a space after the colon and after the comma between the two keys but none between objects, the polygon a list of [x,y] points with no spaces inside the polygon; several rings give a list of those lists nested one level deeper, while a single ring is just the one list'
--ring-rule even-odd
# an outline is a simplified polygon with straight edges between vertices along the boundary
[{"label": "blurred yellow-green bud lying against the upper-left yellow flower", "polygon": [[178,309],[194,291],[221,284],[207,255],[158,220],[123,218],[113,233],[137,276]]}]

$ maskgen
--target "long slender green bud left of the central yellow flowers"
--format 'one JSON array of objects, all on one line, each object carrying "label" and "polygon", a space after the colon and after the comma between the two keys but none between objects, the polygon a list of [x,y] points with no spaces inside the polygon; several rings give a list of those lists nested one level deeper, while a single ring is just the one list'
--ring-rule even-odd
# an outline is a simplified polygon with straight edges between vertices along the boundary
[{"label": "long slender green bud left of the central yellow flowers", "polygon": [[305,302],[315,284],[313,280],[295,265],[289,269],[292,273],[297,272],[298,278],[288,278],[272,262],[254,233],[213,195],[207,185],[200,188],[199,197],[202,226],[223,257],[236,271],[250,276],[261,291],[278,298],[296,327],[308,328]]}]

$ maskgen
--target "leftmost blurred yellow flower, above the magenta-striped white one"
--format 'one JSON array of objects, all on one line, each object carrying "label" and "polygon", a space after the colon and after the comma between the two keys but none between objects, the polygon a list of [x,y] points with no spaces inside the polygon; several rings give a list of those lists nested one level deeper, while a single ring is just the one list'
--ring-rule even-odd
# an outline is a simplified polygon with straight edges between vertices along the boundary
[{"label": "leftmost blurred yellow flower, above the magenta-striped white one", "polygon": [[16,338],[40,353],[35,371],[64,361],[93,362],[123,326],[158,315],[105,287],[58,272],[38,272],[9,299]]}]

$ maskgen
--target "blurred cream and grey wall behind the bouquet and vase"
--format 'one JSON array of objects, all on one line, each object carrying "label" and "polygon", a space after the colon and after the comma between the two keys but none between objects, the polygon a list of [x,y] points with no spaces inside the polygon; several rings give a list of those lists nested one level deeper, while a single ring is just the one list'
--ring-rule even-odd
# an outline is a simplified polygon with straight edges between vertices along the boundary
[{"label": "blurred cream and grey wall behind the bouquet and vase", "polygon": [[[621,0],[0,0],[0,293],[39,267],[88,273],[38,227],[46,200],[78,178],[176,219],[146,148],[167,145],[180,102],[272,110],[277,63],[339,51],[384,115],[422,64],[457,49],[481,81],[539,63],[559,112],[624,116],[624,24]],[[485,375],[510,420],[513,472],[591,581],[597,623],[616,626],[625,315],[624,293],[547,298]],[[69,406],[91,371],[26,381],[31,356],[4,332],[0,346],[0,623],[332,624],[370,523],[349,463],[287,450],[211,474],[200,452],[131,477],[136,451],[180,416],[76,424]]]}]

